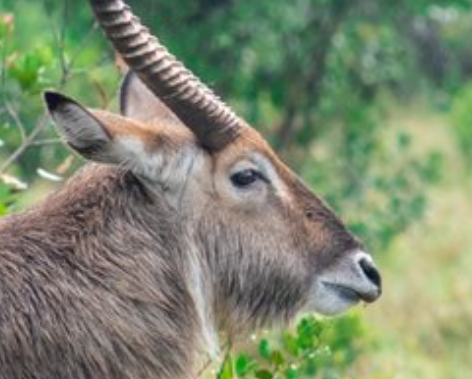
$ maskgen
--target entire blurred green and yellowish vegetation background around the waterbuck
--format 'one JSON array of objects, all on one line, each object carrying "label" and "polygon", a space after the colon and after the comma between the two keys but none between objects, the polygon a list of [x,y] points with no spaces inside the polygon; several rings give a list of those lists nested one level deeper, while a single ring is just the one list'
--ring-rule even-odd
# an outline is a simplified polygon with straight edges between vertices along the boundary
[{"label": "entire blurred green and yellowish vegetation background around the waterbuck", "polygon": [[[129,3],[384,274],[375,305],[258,333],[202,376],[472,378],[472,1]],[[118,66],[85,0],[2,0],[0,215],[83,164],[57,140],[41,91],[113,110]]]}]

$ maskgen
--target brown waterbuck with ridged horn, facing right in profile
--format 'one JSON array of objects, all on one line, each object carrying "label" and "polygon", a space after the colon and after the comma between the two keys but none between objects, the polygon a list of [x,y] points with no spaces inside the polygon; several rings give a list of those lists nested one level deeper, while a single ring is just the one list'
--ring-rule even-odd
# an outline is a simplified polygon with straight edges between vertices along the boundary
[{"label": "brown waterbuck with ridged horn, facing right in profile", "polygon": [[45,94],[86,165],[0,221],[1,379],[191,378],[217,333],[381,292],[333,211],[120,0],[90,0],[130,67],[121,115]]}]

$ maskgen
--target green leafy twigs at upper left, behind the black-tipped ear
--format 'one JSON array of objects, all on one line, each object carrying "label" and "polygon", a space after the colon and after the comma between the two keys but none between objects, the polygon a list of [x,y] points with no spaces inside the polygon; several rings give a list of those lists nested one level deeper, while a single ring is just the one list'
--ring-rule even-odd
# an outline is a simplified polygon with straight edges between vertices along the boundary
[{"label": "green leafy twigs at upper left, behind the black-tipped ear", "polygon": [[[100,39],[91,38],[94,27],[83,21],[90,15],[71,23],[72,33],[67,33],[54,18],[55,12],[69,9],[67,2],[54,8],[52,18],[47,17],[44,6],[42,2],[15,2],[11,9],[17,13],[0,12],[0,159],[9,163],[4,167],[0,161],[0,174],[10,169],[27,183],[37,180],[38,170],[44,168],[60,175],[77,168],[77,164],[65,165],[69,153],[45,117],[41,92],[63,88],[104,108],[118,86],[112,60],[103,59],[108,54],[101,52]],[[76,15],[83,10],[80,7]],[[9,162],[8,157],[18,149],[21,154]]]}]

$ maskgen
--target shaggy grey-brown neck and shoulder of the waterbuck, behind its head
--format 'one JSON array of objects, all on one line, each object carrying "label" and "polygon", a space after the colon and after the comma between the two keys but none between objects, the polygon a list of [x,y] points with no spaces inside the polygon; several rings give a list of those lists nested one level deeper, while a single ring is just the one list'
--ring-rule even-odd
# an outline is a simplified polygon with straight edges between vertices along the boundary
[{"label": "shaggy grey-brown neck and shoulder of the waterbuck, behind its head", "polygon": [[92,166],[4,219],[0,377],[188,377],[200,320],[172,217],[131,174]]}]

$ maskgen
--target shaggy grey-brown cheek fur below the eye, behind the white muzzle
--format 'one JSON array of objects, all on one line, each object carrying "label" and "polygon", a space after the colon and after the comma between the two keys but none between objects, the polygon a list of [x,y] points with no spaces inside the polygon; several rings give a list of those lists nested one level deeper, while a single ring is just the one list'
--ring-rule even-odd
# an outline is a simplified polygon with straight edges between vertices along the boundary
[{"label": "shaggy grey-brown cheek fur below the eye, behind the white muzzle", "polygon": [[289,234],[227,218],[208,216],[204,224],[216,231],[201,238],[223,321],[253,327],[290,319],[302,307],[311,279]]}]

